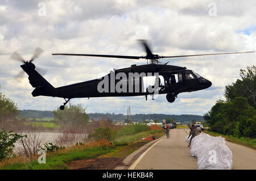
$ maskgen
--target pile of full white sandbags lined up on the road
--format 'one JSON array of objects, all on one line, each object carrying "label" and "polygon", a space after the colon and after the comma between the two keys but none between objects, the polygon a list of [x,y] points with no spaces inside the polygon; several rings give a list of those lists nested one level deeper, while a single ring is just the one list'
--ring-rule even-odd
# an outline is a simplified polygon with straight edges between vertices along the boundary
[{"label": "pile of full white sandbags lined up on the road", "polygon": [[232,169],[232,151],[225,145],[225,142],[225,138],[213,137],[209,134],[199,134],[193,138],[190,151],[191,155],[197,158],[198,169]]}]

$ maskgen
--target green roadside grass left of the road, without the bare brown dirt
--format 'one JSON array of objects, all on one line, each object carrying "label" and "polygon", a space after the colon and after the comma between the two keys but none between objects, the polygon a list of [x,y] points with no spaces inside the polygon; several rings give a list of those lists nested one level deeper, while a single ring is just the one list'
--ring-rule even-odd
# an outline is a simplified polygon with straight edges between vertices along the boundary
[{"label": "green roadside grass left of the road, without the bare brown dirt", "polygon": [[147,140],[142,140],[143,137],[151,137],[154,135],[158,138],[163,134],[163,130],[146,131],[131,136],[120,137],[117,141],[113,142],[113,144],[110,144],[108,141],[100,140],[89,142],[85,145],[71,146],[69,148],[56,151],[55,153],[47,153],[46,164],[38,163],[37,159],[39,155],[31,159],[24,159],[22,157],[5,159],[0,162],[0,169],[67,169],[66,163],[80,159],[96,158],[99,155],[125,158],[140,146],[149,142]]}]

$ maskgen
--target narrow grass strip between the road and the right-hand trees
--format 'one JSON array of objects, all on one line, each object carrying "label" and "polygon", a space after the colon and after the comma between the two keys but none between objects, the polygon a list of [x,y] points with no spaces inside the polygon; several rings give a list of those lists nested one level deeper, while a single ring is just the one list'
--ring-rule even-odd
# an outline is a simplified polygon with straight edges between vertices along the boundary
[{"label": "narrow grass strip between the road and the right-hand trees", "polygon": [[204,131],[204,133],[210,134],[212,136],[222,136],[226,139],[226,141],[234,142],[236,144],[240,144],[243,146],[247,146],[249,148],[256,149],[256,139],[244,138],[244,137],[237,138],[230,135],[224,135],[224,134],[209,132],[209,131]]}]

